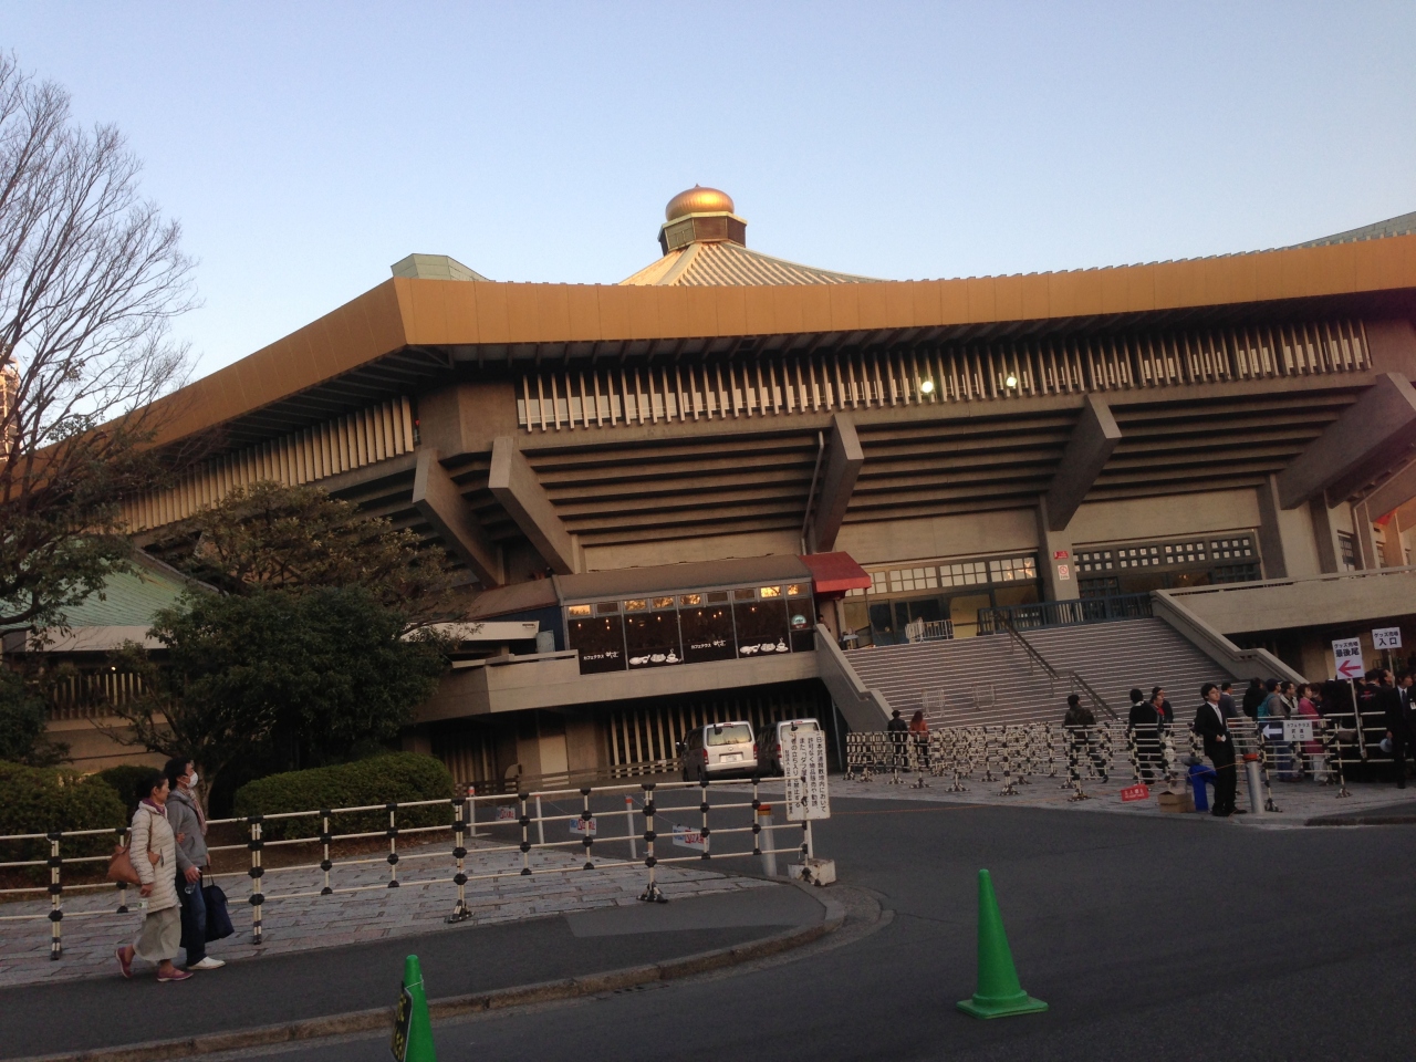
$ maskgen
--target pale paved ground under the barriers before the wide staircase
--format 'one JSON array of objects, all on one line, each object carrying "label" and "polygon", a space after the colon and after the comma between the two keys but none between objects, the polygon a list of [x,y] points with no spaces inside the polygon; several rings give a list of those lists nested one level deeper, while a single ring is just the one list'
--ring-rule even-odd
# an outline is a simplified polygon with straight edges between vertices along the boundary
[{"label": "pale paved ground under the barriers before the wide staircase", "polygon": [[[967,787],[963,793],[949,792],[953,776],[935,777],[925,776],[926,786],[916,789],[918,775],[901,776],[899,784],[891,782],[889,775],[877,775],[869,782],[847,782],[841,775],[833,775],[830,789],[833,799],[862,797],[867,800],[919,800],[926,803],[976,804],[981,807],[1051,807],[1075,811],[1090,811],[1100,814],[1126,814],[1155,818],[1199,818],[1198,814],[1177,814],[1161,811],[1157,800],[1164,790],[1163,784],[1153,784],[1148,800],[1123,801],[1121,790],[1134,784],[1130,779],[1112,779],[1107,783],[1086,782],[1083,792],[1089,800],[1070,800],[1072,784],[1065,777],[1032,776],[1027,782],[1014,780],[1015,796],[1003,796],[1004,783],[1000,777],[984,782],[980,777],[964,779]],[[763,799],[780,800],[783,786],[779,780],[762,783]],[[1351,796],[1338,799],[1337,786],[1320,786],[1314,782],[1274,782],[1273,801],[1280,809],[1276,813],[1233,816],[1226,821],[1246,828],[1286,830],[1304,826],[1325,826],[1328,823],[1314,821],[1332,816],[1344,818],[1361,818],[1371,816],[1391,817],[1393,801],[1405,796],[1403,790],[1383,783],[1352,783],[1347,789]],[[1247,786],[1240,783],[1239,801],[1242,809],[1249,807]],[[1409,811],[1416,814],[1416,809]],[[1205,816],[1208,818],[1208,816]],[[1331,823],[1340,826],[1340,823]],[[780,826],[779,826],[780,830]]]}]

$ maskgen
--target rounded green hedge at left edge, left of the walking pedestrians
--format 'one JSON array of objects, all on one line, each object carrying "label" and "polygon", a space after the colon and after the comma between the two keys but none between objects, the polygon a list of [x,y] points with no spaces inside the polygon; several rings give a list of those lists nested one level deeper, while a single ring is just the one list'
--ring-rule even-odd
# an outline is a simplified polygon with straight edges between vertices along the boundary
[{"label": "rounded green hedge at left edge, left of the walking pedestrians", "polygon": [[[27,767],[0,762],[0,835],[51,830],[116,830],[127,826],[123,801],[98,777],[62,767]],[[61,843],[59,854],[103,855],[116,834]],[[35,860],[50,854],[47,841],[0,841],[0,861]],[[96,864],[93,864],[96,865]],[[91,867],[91,865],[89,865]]]}]

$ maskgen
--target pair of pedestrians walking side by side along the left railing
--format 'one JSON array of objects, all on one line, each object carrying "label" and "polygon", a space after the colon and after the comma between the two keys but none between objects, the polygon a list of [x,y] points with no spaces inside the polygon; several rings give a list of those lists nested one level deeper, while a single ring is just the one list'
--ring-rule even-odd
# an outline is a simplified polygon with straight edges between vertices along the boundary
[{"label": "pair of pedestrians walking side by side along the left railing", "polygon": [[[137,959],[157,967],[163,983],[185,981],[194,970],[219,970],[225,963],[207,954],[211,886],[202,888],[208,867],[207,817],[194,787],[191,760],[171,759],[137,782],[137,810],[129,833],[129,858],[140,881],[143,923],[130,944],[118,949],[123,977],[133,976]],[[185,969],[173,961],[185,952]]]}]

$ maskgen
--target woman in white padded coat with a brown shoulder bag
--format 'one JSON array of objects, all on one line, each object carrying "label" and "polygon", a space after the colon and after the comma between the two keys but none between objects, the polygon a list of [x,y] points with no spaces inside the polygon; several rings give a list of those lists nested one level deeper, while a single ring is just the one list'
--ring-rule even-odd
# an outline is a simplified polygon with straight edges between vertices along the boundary
[{"label": "woman in white padded coat with a brown shoulder bag", "polygon": [[133,976],[133,960],[157,963],[159,981],[185,981],[185,970],[173,966],[181,947],[181,906],[177,901],[177,838],[167,823],[167,777],[153,772],[139,782],[129,855],[147,901],[143,927],[132,944],[118,949],[123,977]]}]

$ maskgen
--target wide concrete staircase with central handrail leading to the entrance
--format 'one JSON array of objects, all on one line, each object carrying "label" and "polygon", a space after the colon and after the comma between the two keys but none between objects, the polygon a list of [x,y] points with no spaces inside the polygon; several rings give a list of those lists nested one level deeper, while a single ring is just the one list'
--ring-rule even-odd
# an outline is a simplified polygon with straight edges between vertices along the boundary
[{"label": "wide concrete staircase with central handrail leading to the entrance", "polygon": [[[1178,718],[1194,715],[1204,683],[1239,680],[1161,619],[1028,630],[1024,637],[1052,680],[1008,634],[857,649],[845,654],[861,684],[905,718],[925,709],[930,726],[1061,722],[1076,671],[1123,719],[1131,687],[1165,687]],[[1085,698],[1083,698],[1083,702]]]}]

